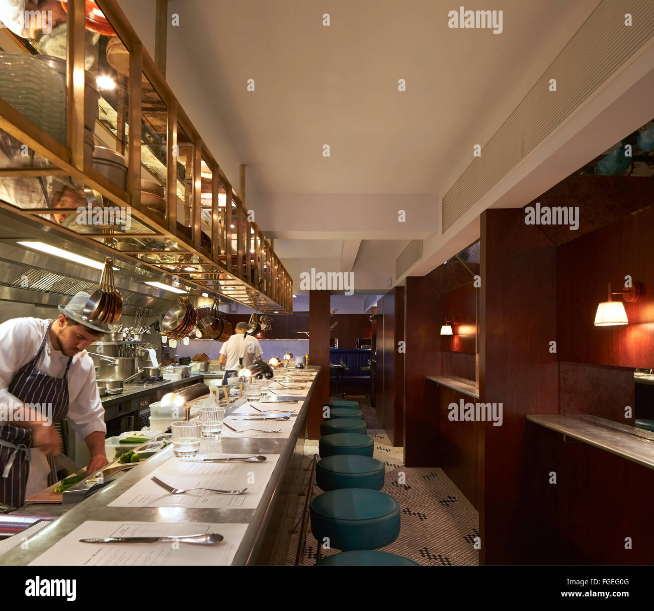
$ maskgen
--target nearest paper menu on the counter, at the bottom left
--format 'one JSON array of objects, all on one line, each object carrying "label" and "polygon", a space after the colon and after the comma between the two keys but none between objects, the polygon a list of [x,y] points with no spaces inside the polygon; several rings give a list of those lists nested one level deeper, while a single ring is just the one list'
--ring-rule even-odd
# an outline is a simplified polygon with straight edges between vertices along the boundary
[{"label": "nearest paper menu on the counter, at the bottom left", "polygon": [[[61,538],[30,565],[133,567],[230,565],[247,524],[203,522],[104,522],[89,520]],[[171,536],[218,532],[216,545],[188,543],[80,543],[80,539],[116,536]]]}]

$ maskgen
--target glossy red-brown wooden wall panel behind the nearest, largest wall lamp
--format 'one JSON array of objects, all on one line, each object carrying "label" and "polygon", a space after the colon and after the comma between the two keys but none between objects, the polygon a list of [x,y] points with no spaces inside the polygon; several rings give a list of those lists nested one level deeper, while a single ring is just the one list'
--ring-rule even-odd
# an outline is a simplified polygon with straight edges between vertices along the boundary
[{"label": "glossy red-brown wooden wall panel behind the nearest, largest wall lamp", "polygon": [[[559,247],[559,360],[654,367],[653,236],[654,207],[649,207]],[[625,275],[643,285],[640,300],[625,304],[629,324],[594,326],[597,304],[607,299],[607,283],[621,290]]]}]

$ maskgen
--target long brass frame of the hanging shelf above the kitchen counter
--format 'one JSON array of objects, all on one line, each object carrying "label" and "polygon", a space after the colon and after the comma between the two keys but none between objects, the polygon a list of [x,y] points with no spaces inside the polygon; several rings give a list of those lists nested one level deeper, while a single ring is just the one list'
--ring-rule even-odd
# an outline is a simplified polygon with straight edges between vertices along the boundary
[{"label": "long brass frame of the hanging shelf above the kitchen counter", "polygon": [[[128,190],[123,191],[111,183],[93,167],[84,164],[84,0],[68,2],[68,48],[67,48],[67,145],[63,146],[25,116],[0,98],[0,128],[43,156],[55,167],[50,168],[6,168],[0,169],[0,179],[10,176],[70,176],[82,181],[86,186],[99,192],[114,206],[128,208],[131,216],[153,230],[152,234],[121,234],[124,239],[155,238],[169,239],[179,245],[178,250],[138,249],[120,251],[98,241],[101,234],[78,234],[65,228],[54,220],[39,218],[57,232],[90,244],[99,253],[110,253],[116,258],[128,258],[138,266],[148,268],[162,277],[178,279],[187,289],[203,292],[211,296],[222,296],[254,307],[266,313],[292,313],[293,285],[290,274],[273,251],[256,222],[249,220],[249,211],[243,205],[239,194],[227,179],[224,171],[201,139],[198,131],[179,105],[177,98],[165,81],[156,63],[143,48],[133,27],[116,3],[116,0],[97,0],[97,5],[111,23],[129,52],[129,106],[128,106]],[[166,213],[156,213],[141,205],[141,79],[149,80],[152,88],[167,107],[167,184]],[[173,156],[177,143],[178,126],[190,138],[194,147],[192,159],[192,224],[190,237],[179,231],[177,222],[177,162]],[[201,223],[201,162],[209,167],[212,176],[211,188],[211,236],[203,231]],[[243,190],[241,182],[241,190]],[[225,192],[226,217],[220,222],[223,209],[218,203],[221,188]],[[52,209],[21,209],[0,201],[0,208],[10,210],[26,217],[51,214]],[[204,207],[205,210],[209,206]],[[65,209],[57,209],[57,213]],[[74,211],[71,209],[70,212]],[[232,222],[227,222],[236,214],[236,249],[232,247]],[[252,232],[253,230],[253,232]],[[210,238],[204,245],[202,236]],[[223,248],[221,249],[221,246]],[[142,254],[186,254],[197,258],[192,263],[179,263],[179,270],[170,270],[169,262],[147,262]],[[224,258],[224,261],[222,260]],[[235,261],[233,262],[233,258]],[[233,264],[235,263],[235,264]],[[164,266],[168,266],[165,268]],[[194,266],[198,273],[184,271],[184,266]],[[216,287],[215,282],[220,284]]]}]

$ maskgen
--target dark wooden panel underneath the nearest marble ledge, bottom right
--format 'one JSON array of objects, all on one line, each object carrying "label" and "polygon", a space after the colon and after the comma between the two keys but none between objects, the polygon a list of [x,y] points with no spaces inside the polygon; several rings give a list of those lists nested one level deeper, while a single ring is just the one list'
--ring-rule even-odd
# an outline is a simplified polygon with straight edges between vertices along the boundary
[{"label": "dark wooden panel underneath the nearest marble ledge, bottom right", "polygon": [[[527,423],[524,563],[651,565],[654,471]],[[557,483],[549,483],[550,472]],[[625,549],[625,537],[632,549]]]}]

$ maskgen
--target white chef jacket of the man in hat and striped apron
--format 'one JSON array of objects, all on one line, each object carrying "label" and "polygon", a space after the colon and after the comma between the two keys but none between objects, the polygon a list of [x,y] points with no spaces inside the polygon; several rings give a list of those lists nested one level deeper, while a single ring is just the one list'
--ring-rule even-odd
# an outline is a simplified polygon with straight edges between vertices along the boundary
[{"label": "white chef jacket of the man in hat and striped apron", "polygon": [[[36,356],[50,324],[52,319],[37,318],[15,318],[0,324],[0,404],[20,404],[20,400],[9,392],[9,383],[14,374]],[[36,367],[42,374],[62,377],[69,358],[52,347],[48,334]],[[68,394],[66,419],[78,436],[85,439],[97,430],[106,434],[105,410],[95,384],[95,365],[86,350],[71,361]],[[26,497],[47,487],[49,471],[46,457],[39,449],[32,448]]]}]

